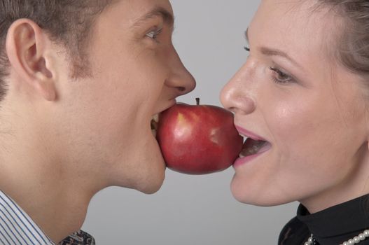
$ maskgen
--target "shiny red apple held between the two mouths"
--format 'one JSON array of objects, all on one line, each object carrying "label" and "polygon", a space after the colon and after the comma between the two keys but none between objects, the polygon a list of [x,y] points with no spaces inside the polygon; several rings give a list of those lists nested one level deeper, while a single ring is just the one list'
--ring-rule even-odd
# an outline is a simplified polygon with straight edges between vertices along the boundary
[{"label": "shiny red apple held between the two mouths", "polygon": [[156,137],[167,167],[183,174],[227,169],[243,145],[233,114],[211,105],[175,104],[160,113]]}]

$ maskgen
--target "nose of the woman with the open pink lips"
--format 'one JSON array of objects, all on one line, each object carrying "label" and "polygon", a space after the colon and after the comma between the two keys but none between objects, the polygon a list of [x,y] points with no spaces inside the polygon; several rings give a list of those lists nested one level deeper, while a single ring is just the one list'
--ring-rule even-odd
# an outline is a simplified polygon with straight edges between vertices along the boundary
[{"label": "nose of the woman with the open pink lips", "polygon": [[224,108],[236,114],[249,114],[256,109],[251,95],[250,77],[245,69],[246,66],[242,67],[221,91],[221,103]]}]

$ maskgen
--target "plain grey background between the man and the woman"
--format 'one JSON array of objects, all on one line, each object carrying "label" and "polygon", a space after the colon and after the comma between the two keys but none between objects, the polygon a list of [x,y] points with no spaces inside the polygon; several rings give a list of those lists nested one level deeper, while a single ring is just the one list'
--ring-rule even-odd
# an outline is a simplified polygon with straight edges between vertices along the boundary
[{"label": "plain grey background between the man and the woman", "polygon": [[[219,92],[244,63],[244,31],[259,1],[172,0],[176,16],[174,45],[197,80],[179,102],[221,106]],[[88,209],[83,230],[97,245],[249,245],[277,244],[297,203],[253,207],[230,193],[232,167],[224,172],[190,176],[167,170],[158,193],[108,188]]]}]

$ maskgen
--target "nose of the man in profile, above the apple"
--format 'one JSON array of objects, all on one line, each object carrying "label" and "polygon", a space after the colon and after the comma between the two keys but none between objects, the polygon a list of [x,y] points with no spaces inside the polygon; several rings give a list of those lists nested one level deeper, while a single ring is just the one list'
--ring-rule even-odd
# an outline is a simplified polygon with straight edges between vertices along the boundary
[{"label": "nose of the man in profile, above the apple", "polygon": [[192,74],[183,65],[175,50],[172,57],[169,58],[168,64],[171,73],[167,80],[165,80],[165,85],[173,87],[176,90],[176,94],[178,94],[177,96],[187,94],[195,89],[195,78],[193,78]]}]

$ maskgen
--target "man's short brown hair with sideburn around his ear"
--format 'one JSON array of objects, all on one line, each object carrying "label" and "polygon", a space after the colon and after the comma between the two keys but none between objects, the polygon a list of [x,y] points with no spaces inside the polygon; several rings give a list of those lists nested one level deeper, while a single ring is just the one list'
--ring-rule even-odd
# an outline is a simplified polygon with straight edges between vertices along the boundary
[{"label": "man's short brown hair with sideburn around his ear", "polygon": [[71,77],[88,76],[85,44],[97,15],[113,0],[0,0],[0,99],[6,94],[8,76],[6,34],[20,18],[33,20],[50,38],[64,45],[71,59]]}]

